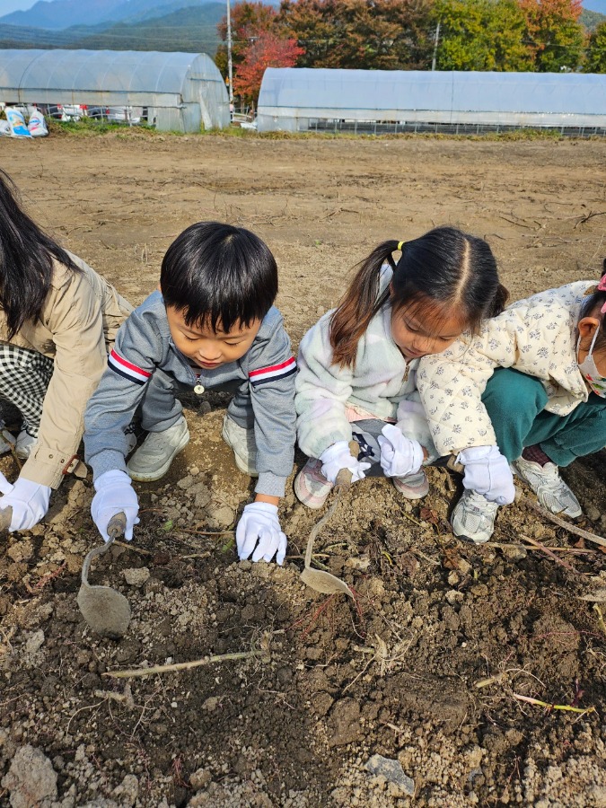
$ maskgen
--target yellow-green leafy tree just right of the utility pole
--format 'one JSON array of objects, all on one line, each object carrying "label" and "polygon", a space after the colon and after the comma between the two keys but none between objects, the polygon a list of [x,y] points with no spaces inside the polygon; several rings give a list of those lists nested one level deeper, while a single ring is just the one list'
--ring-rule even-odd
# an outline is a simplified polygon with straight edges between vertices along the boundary
[{"label": "yellow-green leafy tree just right of the utility pole", "polygon": [[438,70],[529,70],[525,18],[516,0],[436,0]]}]

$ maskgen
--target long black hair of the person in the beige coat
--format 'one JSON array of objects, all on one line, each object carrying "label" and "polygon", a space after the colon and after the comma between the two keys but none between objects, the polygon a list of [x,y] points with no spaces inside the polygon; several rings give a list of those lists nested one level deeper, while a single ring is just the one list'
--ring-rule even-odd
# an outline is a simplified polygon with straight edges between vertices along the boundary
[{"label": "long black hair of the person in the beige coat", "polygon": [[66,250],[25,213],[13,180],[0,169],[0,308],[9,339],[25,322],[40,317],[53,276],[53,259],[79,271]]}]

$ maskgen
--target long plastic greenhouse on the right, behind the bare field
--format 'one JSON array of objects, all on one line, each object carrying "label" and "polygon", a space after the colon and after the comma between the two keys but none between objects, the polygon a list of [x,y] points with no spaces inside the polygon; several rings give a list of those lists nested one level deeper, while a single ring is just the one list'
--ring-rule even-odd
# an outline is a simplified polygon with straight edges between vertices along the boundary
[{"label": "long plastic greenhouse on the right, behind the bare field", "polygon": [[257,120],[259,132],[606,135],[606,75],[268,68]]}]

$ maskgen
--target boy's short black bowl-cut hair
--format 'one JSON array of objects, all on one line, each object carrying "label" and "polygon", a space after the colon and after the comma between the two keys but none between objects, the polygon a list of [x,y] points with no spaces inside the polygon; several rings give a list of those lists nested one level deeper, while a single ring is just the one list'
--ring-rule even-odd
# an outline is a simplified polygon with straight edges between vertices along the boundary
[{"label": "boy's short black bowl-cut hair", "polygon": [[277,265],[268,245],[250,230],[220,222],[192,224],[162,260],[164,303],[188,326],[231,331],[262,320],[276,300]]}]

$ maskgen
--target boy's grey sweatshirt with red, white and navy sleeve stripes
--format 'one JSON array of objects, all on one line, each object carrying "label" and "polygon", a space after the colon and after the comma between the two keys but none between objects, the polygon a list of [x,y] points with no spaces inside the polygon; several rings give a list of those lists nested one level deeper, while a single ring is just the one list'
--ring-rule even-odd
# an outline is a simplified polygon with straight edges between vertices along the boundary
[{"label": "boy's grey sweatshirt with red, white and navy sleeve stripes", "polygon": [[215,370],[194,369],[172,342],[162,294],[150,294],[120,327],[108,368],[86,408],[85,460],[93,479],[105,471],[127,470],[124,429],[157,369],[189,389],[248,384],[258,450],[255,491],[284,496],[294,461],[296,363],[277,308],[268,311],[250,349],[237,362]]}]

